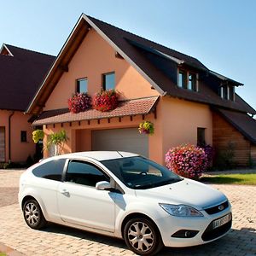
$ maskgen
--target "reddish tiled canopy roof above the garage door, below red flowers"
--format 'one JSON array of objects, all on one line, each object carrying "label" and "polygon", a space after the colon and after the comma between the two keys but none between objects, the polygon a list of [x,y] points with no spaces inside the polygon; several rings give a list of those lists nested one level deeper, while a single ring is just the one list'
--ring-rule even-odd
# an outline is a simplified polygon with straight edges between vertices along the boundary
[{"label": "reddish tiled canopy roof above the garage door, below red flowers", "polygon": [[100,112],[96,109],[89,109],[80,113],[71,113],[67,108],[44,111],[32,125],[49,125],[146,114],[154,110],[158,98],[159,96],[153,96],[119,102],[119,107],[109,112]]}]

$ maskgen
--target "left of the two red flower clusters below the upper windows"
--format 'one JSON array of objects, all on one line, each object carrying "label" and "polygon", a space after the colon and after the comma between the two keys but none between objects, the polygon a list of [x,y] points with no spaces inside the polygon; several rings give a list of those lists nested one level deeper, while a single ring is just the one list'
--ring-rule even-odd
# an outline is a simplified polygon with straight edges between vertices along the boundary
[{"label": "left of the two red flower clusters below the upper windows", "polygon": [[84,112],[91,107],[91,98],[87,93],[76,93],[68,99],[68,109],[72,113]]}]

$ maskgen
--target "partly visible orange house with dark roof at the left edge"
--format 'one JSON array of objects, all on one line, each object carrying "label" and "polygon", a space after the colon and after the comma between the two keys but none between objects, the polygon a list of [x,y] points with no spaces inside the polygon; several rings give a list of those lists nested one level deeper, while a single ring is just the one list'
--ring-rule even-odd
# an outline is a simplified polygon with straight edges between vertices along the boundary
[{"label": "partly visible orange house with dark roof at the left edge", "polygon": [[55,57],[3,44],[0,49],[0,162],[25,162],[36,152],[32,115],[24,112]]}]

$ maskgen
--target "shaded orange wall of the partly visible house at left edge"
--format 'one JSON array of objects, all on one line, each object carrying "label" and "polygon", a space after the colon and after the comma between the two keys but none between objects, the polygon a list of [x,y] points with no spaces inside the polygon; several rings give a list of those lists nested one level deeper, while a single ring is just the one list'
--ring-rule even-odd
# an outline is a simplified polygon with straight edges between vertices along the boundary
[{"label": "shaded orange wall of the partly visible house at left edge", "polygon": [[[0,110],[0,126],[5,127],[5,161],[9,161],[9,115],[12,111]],[[30,115],[15,111],[11,117],[11,161],[26,161],[29,155],[35,154],[35,144],[32,142],[32,125],[27,122]],[[26,131],[27,142],[20,142],[20,131]]]}]

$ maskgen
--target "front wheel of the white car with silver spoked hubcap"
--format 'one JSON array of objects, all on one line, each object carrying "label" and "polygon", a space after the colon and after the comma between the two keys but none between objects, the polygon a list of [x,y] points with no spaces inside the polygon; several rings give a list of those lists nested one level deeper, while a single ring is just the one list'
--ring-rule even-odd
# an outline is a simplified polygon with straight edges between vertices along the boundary
[{"label": "front wheel of the white car with silver spoked hubcap", "polygon": [[127,247],[138,255],[154,255],[163,247],[160,232],[146,218],[133,218],[125,224],[124,238]]}]

